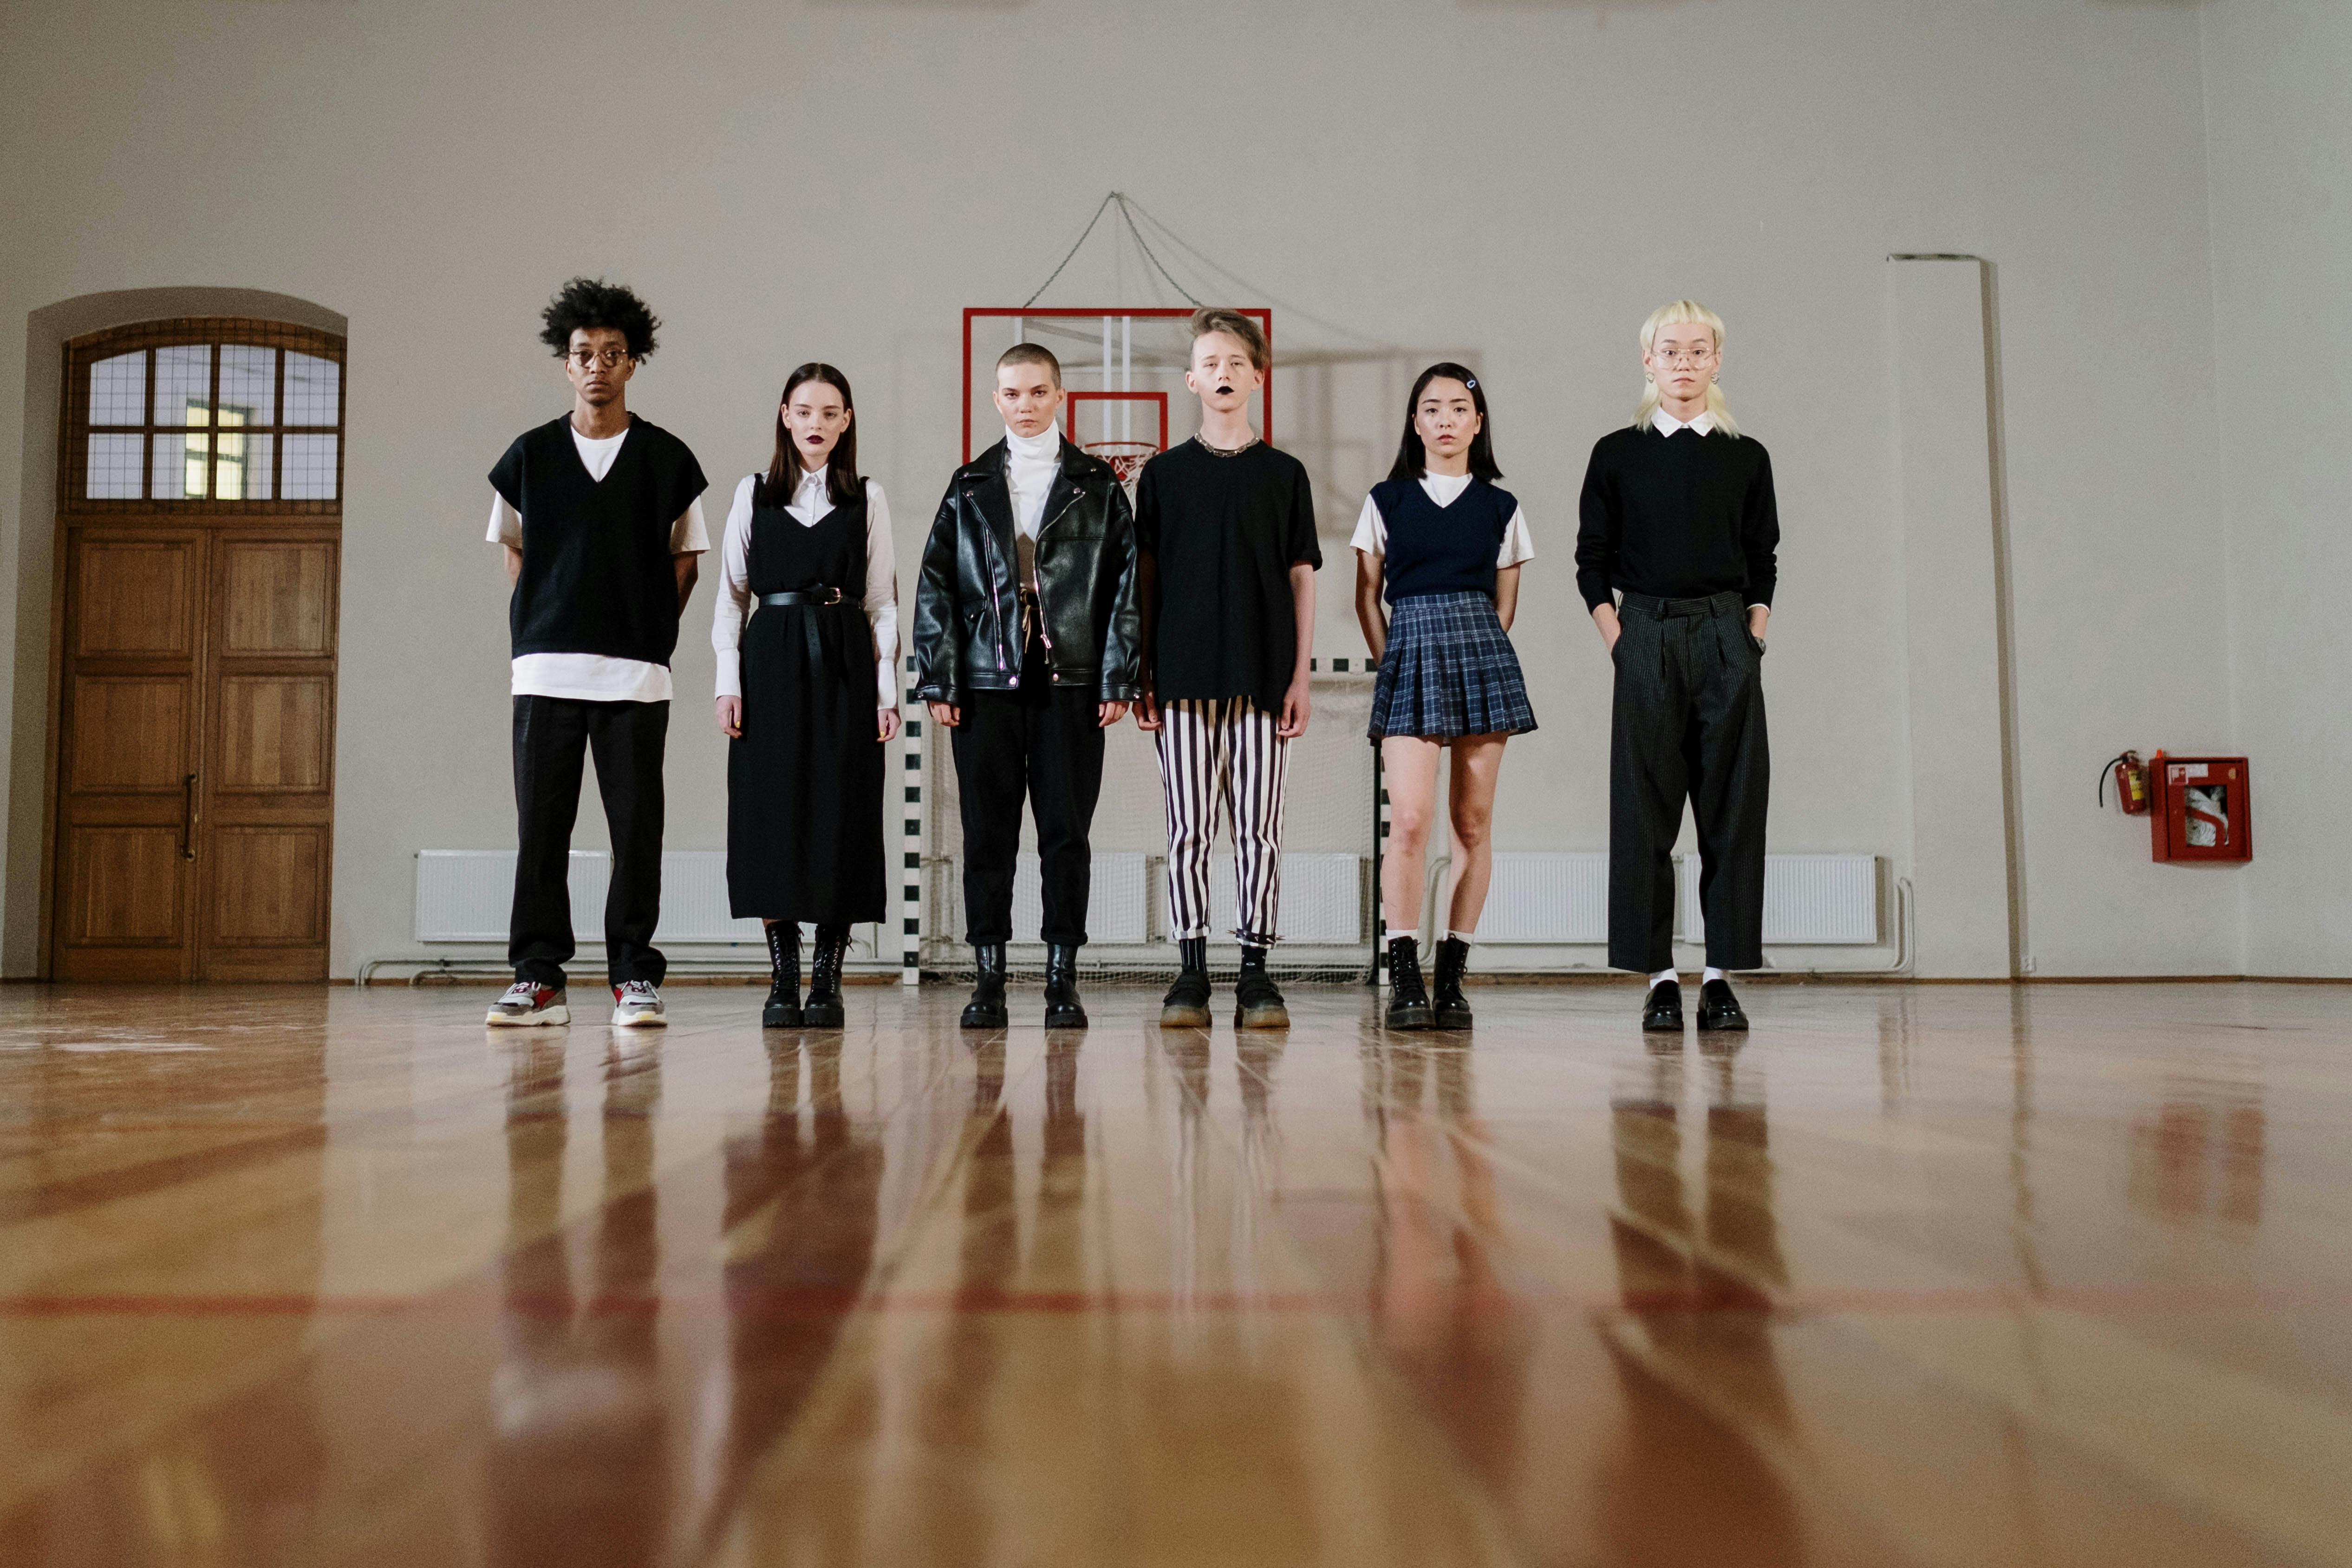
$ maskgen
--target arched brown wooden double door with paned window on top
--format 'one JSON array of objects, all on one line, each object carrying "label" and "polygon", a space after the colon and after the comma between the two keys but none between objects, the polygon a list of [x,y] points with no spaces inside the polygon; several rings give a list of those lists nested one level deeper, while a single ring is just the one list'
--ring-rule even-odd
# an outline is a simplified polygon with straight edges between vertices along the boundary
[{"label": "arched brown wooden double door with paned window on top", "polygon": [[320,980],[343,339],[78,336],[59,430],[49,973]]}]

